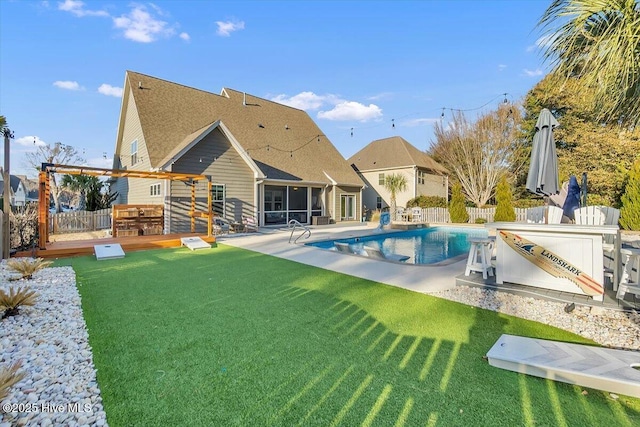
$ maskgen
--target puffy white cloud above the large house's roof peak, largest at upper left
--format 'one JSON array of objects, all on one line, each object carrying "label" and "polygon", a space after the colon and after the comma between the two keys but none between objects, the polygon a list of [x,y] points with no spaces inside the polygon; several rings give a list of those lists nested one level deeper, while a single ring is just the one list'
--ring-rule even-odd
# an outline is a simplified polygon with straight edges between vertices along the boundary
[{"label": "puffy white cloud above the large house's roof peak, largest at upper left", "polygon": [[[158,13],[158,7],[152,7]],[[113,18],[113,24],[124,30],[125,38],[140,43],[151,43],[160,36],[170,37],[175,34],[175,30],[167,22],[152,16],[143,5],[135,6],[128,15]]]}]

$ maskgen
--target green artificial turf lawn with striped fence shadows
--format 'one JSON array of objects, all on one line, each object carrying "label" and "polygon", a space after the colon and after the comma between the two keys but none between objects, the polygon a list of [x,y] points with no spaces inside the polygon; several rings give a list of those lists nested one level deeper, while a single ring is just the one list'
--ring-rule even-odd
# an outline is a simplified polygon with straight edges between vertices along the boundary
[{"label": "green artificial turf lawn with striped fence shadows", "polygon": [[57,265],[111,426],[640,424],[639,399],[483,360],[502,333],[589,343],[540,323],[224,245]]}]

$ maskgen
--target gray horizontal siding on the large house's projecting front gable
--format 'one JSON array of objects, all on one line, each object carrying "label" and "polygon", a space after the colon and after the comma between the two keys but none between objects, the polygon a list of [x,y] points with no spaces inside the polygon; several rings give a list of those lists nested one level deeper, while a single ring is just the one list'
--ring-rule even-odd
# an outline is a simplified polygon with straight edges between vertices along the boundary
[{"label": "gray horizontal siding on the large house's projecting front gable", "polygon": [[[211,177],[214,185],[224,185],[223,216],[241,222],[243,216],[255,216],[255,179],[251,168],[240,157],[220,130],[215,129],[173,164],[173,172],[194,173]],[[171,181],[168,204],[171,233],[191,231],[191,187]],[[196,182],[196,211],[207,211],[207,182]],[[196,218],[196,232],[207,231],[206,218]]]}]

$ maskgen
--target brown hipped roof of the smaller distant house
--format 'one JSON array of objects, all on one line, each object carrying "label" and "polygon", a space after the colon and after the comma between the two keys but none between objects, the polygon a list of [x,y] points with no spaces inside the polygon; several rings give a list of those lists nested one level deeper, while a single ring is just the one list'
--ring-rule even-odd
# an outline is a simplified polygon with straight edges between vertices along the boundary
[{"label": "brown hipped roof of the smaller distant house", "polygon": [[355,165],[361,172],[418,166],[435,173],[448,173],[444,166],[399,136],[373,141],[347,162]]}]

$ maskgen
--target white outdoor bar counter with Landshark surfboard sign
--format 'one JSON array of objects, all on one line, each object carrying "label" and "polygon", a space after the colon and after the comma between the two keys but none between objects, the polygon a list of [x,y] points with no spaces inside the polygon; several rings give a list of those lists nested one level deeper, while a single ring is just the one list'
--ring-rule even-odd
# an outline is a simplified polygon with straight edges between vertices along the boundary
[{"label": "white outdoor bar counter with Landshark surfboard sign", "polygon": [[[500,231],[534,243],[536,250],[543,255],[540,258],[546,258],[542,259],[542,262],[558,262],[560,258],[560,264],[564,261],[570,263],[602,287],[604,287],[603,237],[605,235],[615,236],[614,253],[620,253],[620,229],[617,225],[494,222],[485,224],[485,227],[496,232],[496,283],[499,284],[509,282],[561,292],[587,294],[576,284],[576,280],[554,277],[534,261],[518,253],[501,237]],[[531,251],[531,246],[528,245],[523,250]],[[620,267],[619,257],[614,256],[614,259],[613,286],[615,289]],[[602,301],[602,298],[602,295],[593,296],[593,299],[598,301]]]}]

